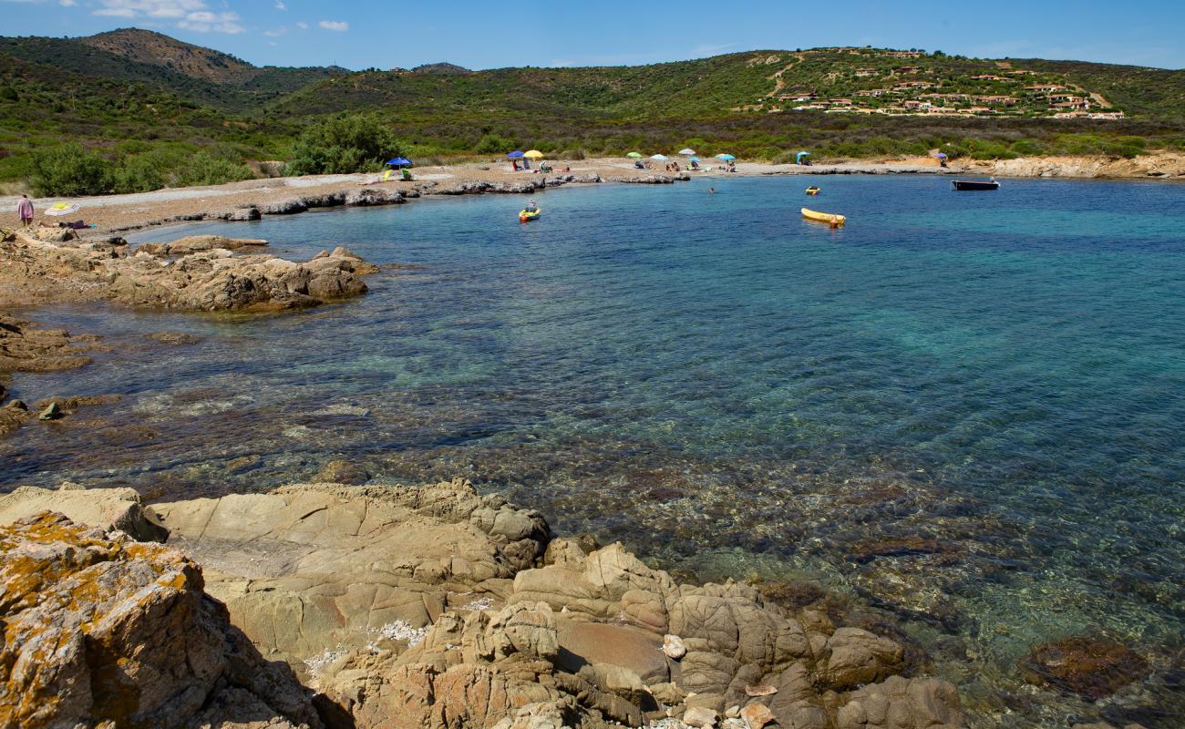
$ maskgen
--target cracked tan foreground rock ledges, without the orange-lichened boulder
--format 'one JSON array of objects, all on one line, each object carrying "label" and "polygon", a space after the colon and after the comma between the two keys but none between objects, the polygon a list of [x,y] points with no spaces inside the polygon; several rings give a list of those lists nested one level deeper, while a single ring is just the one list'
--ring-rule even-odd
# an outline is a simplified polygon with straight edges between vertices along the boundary
[{"label": "cracked tan foreground rock ledges, without the orange-lichened boulder", "polygon": [[747,584],[678,584],[619,544],[551,539],[538,513],[465,481],[148,511],[264,656],[359,728],[638,727],[734,706],[802,729],[962,725],[954,688],[896,676],[888,638]]}]

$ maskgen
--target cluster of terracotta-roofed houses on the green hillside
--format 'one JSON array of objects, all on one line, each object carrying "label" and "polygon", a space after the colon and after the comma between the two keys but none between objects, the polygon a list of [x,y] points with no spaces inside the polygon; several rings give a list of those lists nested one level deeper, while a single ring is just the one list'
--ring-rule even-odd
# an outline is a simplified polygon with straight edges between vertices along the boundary
[{"label": "cluster of terracotta-roofed houses on the green hillside", "polygon": [[[838,58],[837,58],[838,57]],[[850,59],[845,57],[857,57]],[[911,63],[927,58],[927,63]],[[1076,87],[1056,73],[1014,69],[1010,62],[991,62],[991,72],[968,75],[935,64],[924,51],[832,47],[784,56],[761,56],[750,65],[782,65],[770,76],[775,88],[745,110],[827,114],[882,114],[888,116],[1007,116],[1121,120],[1122,109],[1096,92]],[[826,62],[816,83],[789,87],[792,70],[803,76],[813,64]],[[808,75],[808,73],[806,73]]]}]

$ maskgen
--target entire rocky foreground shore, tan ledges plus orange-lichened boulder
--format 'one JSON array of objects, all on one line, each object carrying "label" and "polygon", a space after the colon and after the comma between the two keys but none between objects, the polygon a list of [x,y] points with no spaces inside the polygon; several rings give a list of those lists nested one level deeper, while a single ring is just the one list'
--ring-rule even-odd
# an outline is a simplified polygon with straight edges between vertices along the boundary
[{"label": "entire rocky foreground shore, tan ledges plus orange-lichened boulder", "polygon": [[[4,727],[962,727],[886,635],[468,482],[0,497]],[[159,542],[165,544],[159,544]]]}]

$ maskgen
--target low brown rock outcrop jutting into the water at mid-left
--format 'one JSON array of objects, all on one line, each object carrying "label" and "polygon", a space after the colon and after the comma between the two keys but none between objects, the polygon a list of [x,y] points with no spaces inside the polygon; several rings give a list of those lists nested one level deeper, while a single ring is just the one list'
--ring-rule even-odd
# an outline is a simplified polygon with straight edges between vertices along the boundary
[{"label": "low brown rock outcrop jutting into the water at mid-left", "polygon": [[[262,242],[192,236],[129,255],[105,242],[47,243],[18,236],[0,251],[13,261],[4,288],[15,302],[108,300],[200,312],[258,312],[316,306],[366,292],[376,267],[342,249],[296,263],[235,255],[225,247]],[[178,254],[179,257],[172,257]]]}]

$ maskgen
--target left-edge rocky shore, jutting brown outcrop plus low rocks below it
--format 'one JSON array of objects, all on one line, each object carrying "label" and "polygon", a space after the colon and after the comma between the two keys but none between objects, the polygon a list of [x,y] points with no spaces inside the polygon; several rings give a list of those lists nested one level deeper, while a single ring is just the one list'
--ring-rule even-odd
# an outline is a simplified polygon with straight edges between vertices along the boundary
[{"label": "left-edge rocky shore, jutting brown outcrop plus low rocks below it", "polygon": [[[108,301],[182,312],[275,312],[361,295],[378,271],[345,248],[303,263],[239,251],[265,241],[188,236],[134,252],[118,237],[79,239],[70,229],[0,231],[0,306]],[[95,397],[7,399],[12,372],[52,372],[90,362],[97,337],[71,337],[0,312],[0,437],[34,417],[57,420]]]}]

